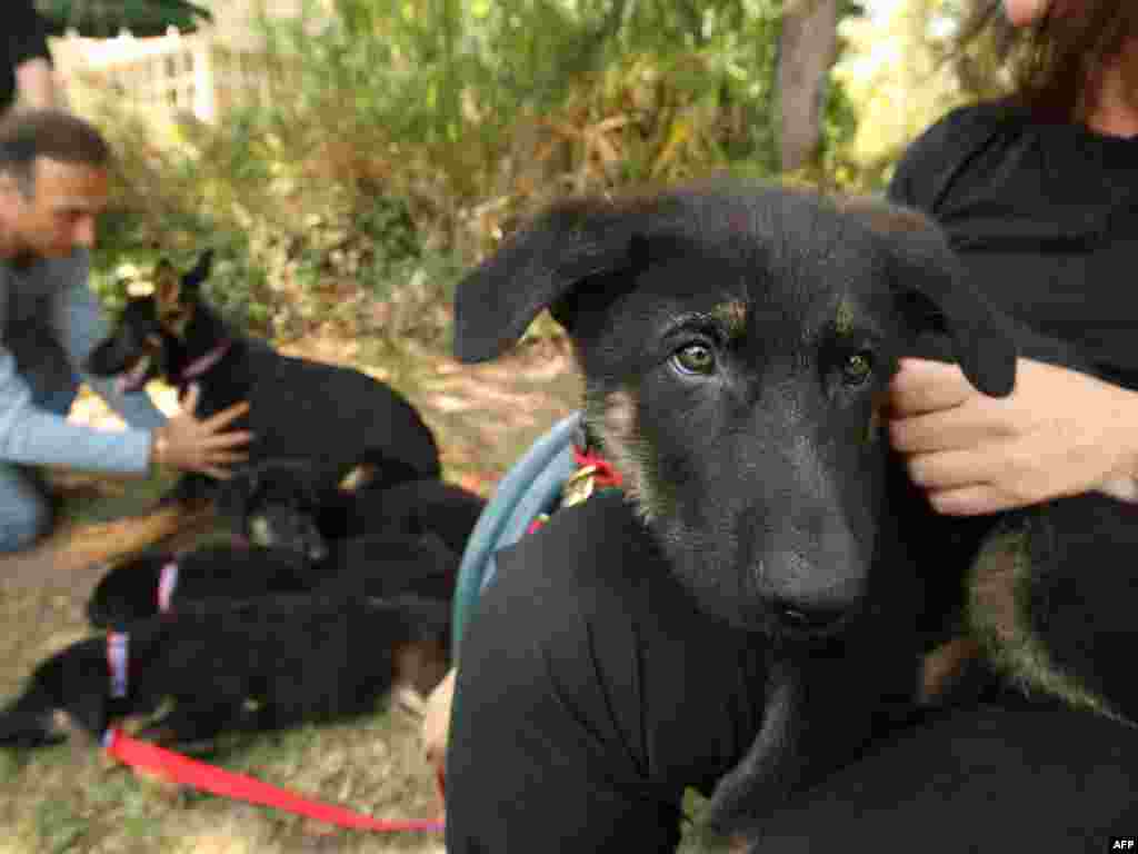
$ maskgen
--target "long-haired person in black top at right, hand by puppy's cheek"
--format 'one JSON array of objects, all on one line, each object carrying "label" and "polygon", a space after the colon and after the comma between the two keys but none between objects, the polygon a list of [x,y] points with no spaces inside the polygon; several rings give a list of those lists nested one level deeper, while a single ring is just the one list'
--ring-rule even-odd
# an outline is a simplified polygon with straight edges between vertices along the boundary
[{"label": "long-haired person in black top at right, hand by puppy's cheek", "polygon": [[1138,5],[1007,0],[1007,13],[1022,27],[1007,40],[1021,57],[1017,93],[934,124],[889,196],[948,230],[997,305],[1080,348],[1113,383],[1021,360],[1014,394],[996,401],[971,393],[955,368],[908,362],[894,384],[893,444],[942,512],[1092,490],[1133,501]]}]

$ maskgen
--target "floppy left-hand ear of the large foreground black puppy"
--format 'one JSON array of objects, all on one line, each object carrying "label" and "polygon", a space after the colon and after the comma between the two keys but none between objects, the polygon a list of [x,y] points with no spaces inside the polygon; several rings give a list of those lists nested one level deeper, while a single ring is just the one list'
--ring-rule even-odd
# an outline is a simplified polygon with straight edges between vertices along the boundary
[{"label": "floppy left-hand ear of the large foreground black puppy", "polygon": [[[454,353],[481,362],[505,352],[543,309],[582,282],[636,263],[645,214],[608,198],[570,199],[513,235],[459,284]],[[564,311],[555,311],[564,322]]]}]

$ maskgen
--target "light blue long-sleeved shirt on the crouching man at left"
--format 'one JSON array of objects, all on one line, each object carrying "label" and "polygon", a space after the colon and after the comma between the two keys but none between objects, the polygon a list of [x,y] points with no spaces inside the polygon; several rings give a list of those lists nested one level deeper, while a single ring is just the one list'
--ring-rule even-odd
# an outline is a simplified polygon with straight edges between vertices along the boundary
[{"label": "light blue long-sleeved shirt on the crouching man at left", "polygon": [[[122,394],[83,363],[108,334],[88,287],[88,254],[27,268],[0,261],[0,461],[124,474],[147,470],[150,430],[165,419],[146,394]],[[36,405],[81,378],[131,425],[96,430]]]}]

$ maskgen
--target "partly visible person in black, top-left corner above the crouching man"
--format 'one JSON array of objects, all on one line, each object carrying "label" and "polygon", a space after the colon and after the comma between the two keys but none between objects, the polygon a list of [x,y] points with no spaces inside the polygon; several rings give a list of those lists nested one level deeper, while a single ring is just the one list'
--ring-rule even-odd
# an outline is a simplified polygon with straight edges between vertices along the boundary
[{"label": "partly visible person in black, top-left corner above the crouching man", "polygon": [[20,106],[47,109],[63,106],[48,50],[47,22],[32,0],[5,3],[0,34],[0,115],[17,101]]}]

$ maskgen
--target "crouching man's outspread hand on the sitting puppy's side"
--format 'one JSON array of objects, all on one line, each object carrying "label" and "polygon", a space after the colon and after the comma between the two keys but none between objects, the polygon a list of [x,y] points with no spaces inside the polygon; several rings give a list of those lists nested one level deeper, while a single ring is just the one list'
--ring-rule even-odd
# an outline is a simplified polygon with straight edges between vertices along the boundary
[{"label": "crouching man's outspread hand on the sitting puppy's side", "polygon": [[154,432],[150,460],[158,466],[170,466],[182,471],[200,471],[229,479],[229,467],[244,462],[248,454],[238,449],[253,438],[249,430],[226,430],[230,424],[249,411],[248,402],[234,403],[228,409],[198,420],[200,389],[191,385],[182,400],[182,412],[173,416]]}]

